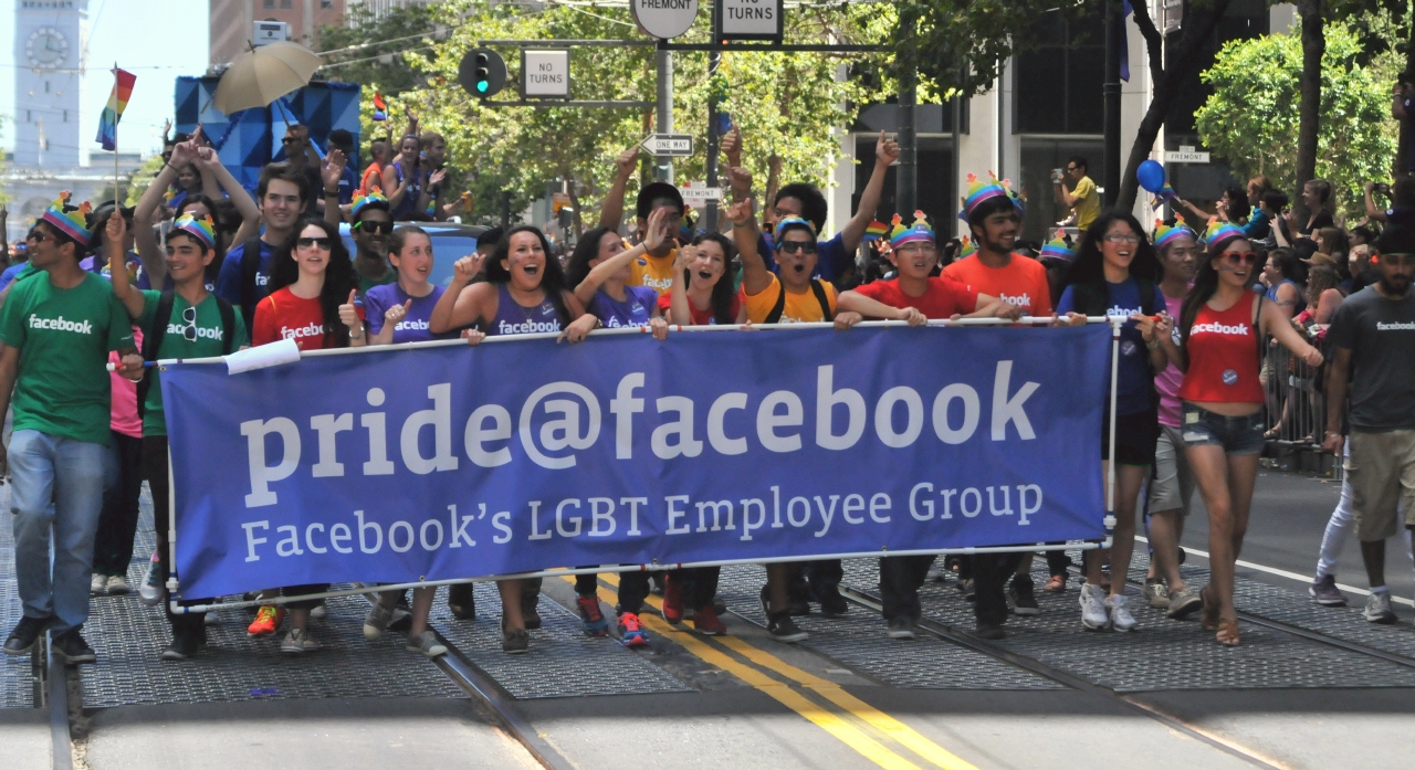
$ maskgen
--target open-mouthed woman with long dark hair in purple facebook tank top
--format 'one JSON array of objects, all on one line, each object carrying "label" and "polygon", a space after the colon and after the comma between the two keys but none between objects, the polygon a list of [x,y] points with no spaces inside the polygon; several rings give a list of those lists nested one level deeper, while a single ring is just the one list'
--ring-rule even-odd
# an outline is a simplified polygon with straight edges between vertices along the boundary
[{"label": "open-mouthed woman with long dark hair in purple facebook tank top", "polygon": [[[473,284],[487,263],[487,281]],[[470,284],[470,285],[468,285]],[[490,256],[470,254],[453,266],[451,284],[433,308],[429,328],[433,333],[478,325],[467,331],[470,345],[485,336],[560,332],[572,343],[584,339],[600,319],[584,312],[584,305],[569,291],[560,263],[550,256],[545,233],[531,225],[512,227],[497,242]],[[522,605],[522,582],[497,581],[501,592],[501,650],[525,653],[531,646],[528,627],[539,627],[535,602]],[[528,599],[539,591],[539,579],[525,586]],[[528,623],[528,620],[531,620]]]}]

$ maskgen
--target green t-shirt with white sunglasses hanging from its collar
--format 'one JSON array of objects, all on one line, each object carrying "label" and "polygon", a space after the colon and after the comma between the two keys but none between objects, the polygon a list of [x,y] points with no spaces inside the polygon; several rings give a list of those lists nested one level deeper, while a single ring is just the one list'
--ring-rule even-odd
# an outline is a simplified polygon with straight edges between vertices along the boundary
[{"label": "green t-shirt with white sunglasses hanging from its collar", "polygon": [[[153,333],[153,322],[157,321],[157,304],[161,302],[163,292],[143,291],[143,315],[137,319],[137,326],[144,335]],[[233,314],[231,331],[231,349],[238,350],[242,345],[250,345],[250,335],[246,333],[246,322],[241,314]],[[226,331],[221,326],[221,308],[216,305],[216,295],[208,294],[195,309],[181,294],[173,295],[173,315],[167,321],[167,331],[163,332],[163,343],[157,348],[158,359],[201,359],[221,356],[225,350]],[[143,435],[167,435],[167,415],[163,413],[163,383],[157,379],[157,367],[147,370],[153,383],[147,387],[147,400],[143,403]]]}]

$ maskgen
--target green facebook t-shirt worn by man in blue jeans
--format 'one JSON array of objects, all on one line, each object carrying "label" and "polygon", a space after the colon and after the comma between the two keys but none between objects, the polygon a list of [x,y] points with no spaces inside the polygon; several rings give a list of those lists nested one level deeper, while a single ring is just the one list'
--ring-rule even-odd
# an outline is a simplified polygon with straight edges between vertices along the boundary
[{"label": "green facebook t-shirt worn by man in blue jeans", "polygon": [[0,309],[0,342],[20,349],[14,430],[108,446],[108,352],[133,348],[127,311],[108,281],[93,273],[74,288],[48,276],[18,281]]}]

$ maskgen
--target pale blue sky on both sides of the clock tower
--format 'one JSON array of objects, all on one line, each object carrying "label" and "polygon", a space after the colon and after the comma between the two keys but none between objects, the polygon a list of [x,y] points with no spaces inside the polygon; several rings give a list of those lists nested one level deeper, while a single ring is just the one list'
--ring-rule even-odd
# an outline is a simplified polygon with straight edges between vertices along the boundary
[{"label": "pale blue sky on both sides of the clock tower", "polygon": [[[161,147],[163,122],[173,113],[173,88],[178,75],[207,71],[205,0],[89,0],[89,72],[83,78],[83,105],[103,109],[113,81],[112,62],[137,75],[133,99],[123,113],[120,150],[144,153]],[[14,150],[14,0],[0,0],[0,147]],[[85,129],[89,131],[89,129]],[[136,143],[136,144],[134,144]],[[95,144],[95,148],[98,146]]]}]

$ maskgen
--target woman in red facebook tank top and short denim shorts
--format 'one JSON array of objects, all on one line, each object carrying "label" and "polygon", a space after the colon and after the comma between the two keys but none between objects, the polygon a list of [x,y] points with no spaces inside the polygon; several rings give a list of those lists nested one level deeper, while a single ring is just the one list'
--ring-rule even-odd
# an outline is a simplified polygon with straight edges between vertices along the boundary
[{"label": "woman in red facebook tank top and short denim shorts", "polygon": [[1210,581],[1201,593],[1204,630],[1217,630],[1224,646],[1237,646],[1234,562],[1248,530],[1252,486],[1264,438],[1264,390],[1258,363],[1264,335],[1272,335],[1310,366],[1322,353],[1292,328],[1278,305],[1248,290],[1258,253],[1242,230],[1210,222],[1208,259],[1184,300],[1184,455],[1208,509]]}]

